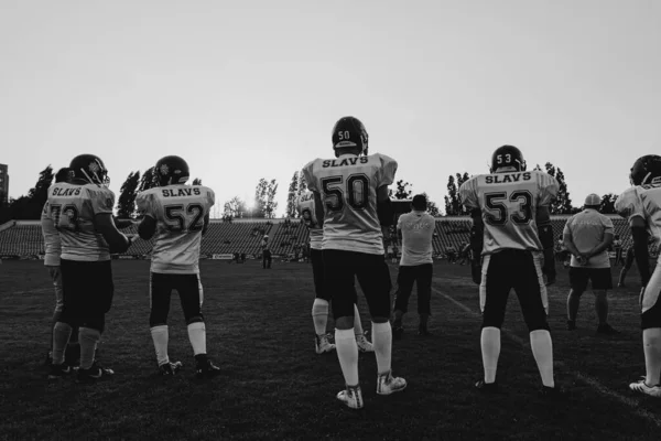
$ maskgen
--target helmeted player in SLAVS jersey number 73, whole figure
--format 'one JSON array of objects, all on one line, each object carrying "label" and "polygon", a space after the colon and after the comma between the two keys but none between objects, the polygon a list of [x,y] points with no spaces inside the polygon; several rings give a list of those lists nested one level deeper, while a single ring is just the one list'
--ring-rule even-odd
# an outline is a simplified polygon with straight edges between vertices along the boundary
[{"label": "helmeted player in SLAVS jersey number 73, whole figure", "polygon": [[113,295],[110,254],[124,252],[132,237],[112,222],[115,194],[108,190],[108,170],[100,158],[80,154],[69,164],[71,182],[48,189],[51,219],[62,243],[61,273],[64,291],[62,314],[53,327],[53,364],[50,378],[71,373],[64,353],[78,327],[80,368],[78,383],[94,381],[112,369],[101,367],[95,353]]}]

